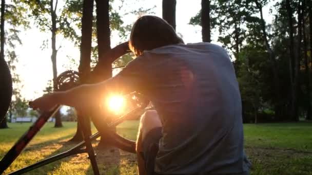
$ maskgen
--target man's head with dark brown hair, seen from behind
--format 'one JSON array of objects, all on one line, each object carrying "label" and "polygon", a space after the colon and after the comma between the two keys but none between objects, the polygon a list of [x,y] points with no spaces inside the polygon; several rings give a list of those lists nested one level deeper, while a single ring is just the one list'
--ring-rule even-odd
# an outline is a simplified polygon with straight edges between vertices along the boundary
[{"label": "man's head with dark brown hair, seen from behind", "polygon": [[135,21],[130,35],[129,48],[140,56],[143,51],[183,43],[174,29],[157,16],[142,16]]}]

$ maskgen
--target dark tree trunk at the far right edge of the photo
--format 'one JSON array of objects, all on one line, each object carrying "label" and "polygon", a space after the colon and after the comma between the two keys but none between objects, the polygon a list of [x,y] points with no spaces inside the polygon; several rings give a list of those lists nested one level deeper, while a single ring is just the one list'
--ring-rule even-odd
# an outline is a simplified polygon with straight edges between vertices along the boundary
[{"label": "dark tree trunk at the far right edge of the photo", "polygon": [[311,118],[311,97],[310,97],[310,72],[309,72],[309,66],[308,66],[308,57],[307,57],[307,53],[308,53],[308,49],[307,49],[307,41],[306,41],[306,33],[305,33],[305,23],[306,20],[304,19],[305,16],[305,1],[302,2],[302,31],[303,31],[303,58],[304,58],[304,67],[305,67],[305,87],[306,87],[306,120]]}]

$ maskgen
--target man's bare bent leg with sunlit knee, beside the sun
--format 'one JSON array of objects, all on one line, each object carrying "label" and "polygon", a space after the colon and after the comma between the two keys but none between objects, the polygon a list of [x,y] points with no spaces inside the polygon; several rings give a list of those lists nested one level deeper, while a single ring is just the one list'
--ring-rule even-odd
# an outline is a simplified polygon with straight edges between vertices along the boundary
[{"label": "man's bare bent leg with sunlit knee, beside the sun", "polygon": [[140,154],[143,151],[142,141],[146,134],[155,127],[162,127],[162,123],[155,110],[146,111],[140,120],[139,133],[136,140],[136,154],[138,156],[138,171],[140,175],[146,175],[145,162]]}]

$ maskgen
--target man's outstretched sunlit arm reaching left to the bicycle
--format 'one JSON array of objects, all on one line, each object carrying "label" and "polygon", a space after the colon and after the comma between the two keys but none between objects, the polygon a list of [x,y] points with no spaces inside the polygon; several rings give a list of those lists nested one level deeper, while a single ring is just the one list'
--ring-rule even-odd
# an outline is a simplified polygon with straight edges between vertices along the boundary
[{"label": "man's outstretched sunlit arm reaching left to the bicycle", "polygon": [[143,59],[136,58],[115,77],[96,84],[77,86],[68,91],[54,92],[30,102],[34,109],[49,111],[55,105],[68,105],[80,109],[99,106],[107,93],[126,94],[146,89],[146,68]]}]

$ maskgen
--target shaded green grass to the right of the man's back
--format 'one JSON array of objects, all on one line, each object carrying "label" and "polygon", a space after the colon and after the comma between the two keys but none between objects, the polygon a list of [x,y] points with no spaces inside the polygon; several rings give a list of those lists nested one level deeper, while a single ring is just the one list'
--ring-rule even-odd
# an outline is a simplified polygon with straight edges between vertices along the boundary
[{"label": "shaded green grass to the right of the man's back", "polygon": [[245,124],[251,174],[312,174],[312,123]]}]

